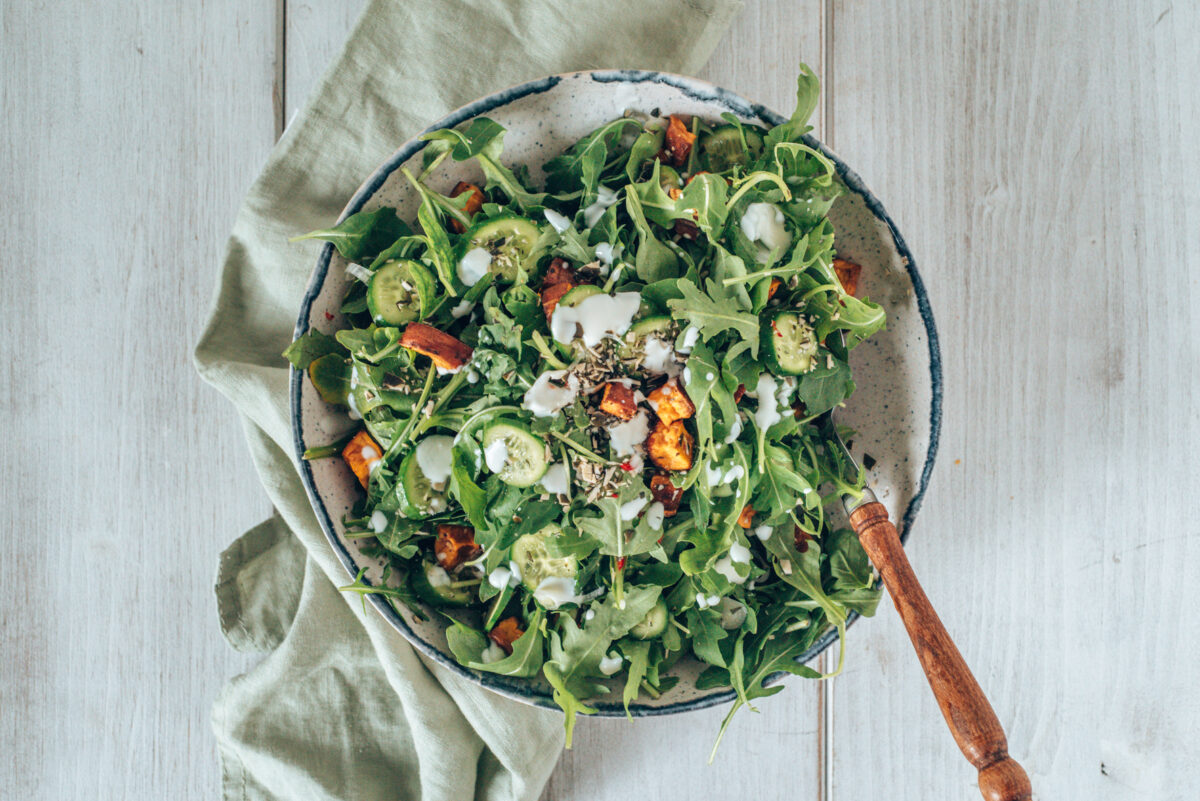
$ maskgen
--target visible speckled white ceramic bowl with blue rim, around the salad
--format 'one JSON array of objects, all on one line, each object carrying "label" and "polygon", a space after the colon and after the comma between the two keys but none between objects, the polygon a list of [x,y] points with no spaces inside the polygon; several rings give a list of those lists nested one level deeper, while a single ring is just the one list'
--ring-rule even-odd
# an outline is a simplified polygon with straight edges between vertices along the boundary
[{"label": "visible speckled white ceramic bowl with blue rim, around the salad", "polygon": [[[695,78],[640,71],[576,72],[553,76],[506,89],[466,106],[430,126],[430,131],[448,128],[486,115],[503,125],[504,159],[509,164],[528,164],[535,181],[542,177],[541,165],[599,125],[620,116],[626,109],[647,114],[698,114],[716,120],[731,112],[742,120],[775,125],[782,118],[730,91]],[[810,144],[821,146],[816,141]],[[400,174],[408,164],[419,171],[420,151],[425,143],[412,139],[359,188],[342,218],[364,209],[395,206],[404,219],[413,219],[418,198]],[[883,206],[863,186],[845,163],[822,150],[838,167],[850,192],[833,210],[838,251],[863,265],[860,294],[881,302],[888,313],[887,330],[853,351],[852,366],[858,391],[839,422],[858,430],[852,450],[859,462],[869,454],[874,466],[869,483],[887,505],[893,519],[900,522],[902,535],[925,492],[941,421],[941,365],[937,333],[920,276],[900,234]],[[436,188],[448,191],[456,181],[481,179],[474,168],[444,163],[430,177]],[[299,336],[310,327],[332,332],[344,327],[338,307],[347,288],[344,261],[332,246],[326,246],[313,270],[308,290],[296,321]],[[361,489],[341,459],[304,462],[300,454],[310,445],[323,445],[347,428],[344,411],[320,401],[312,385],[292,374],[292,417],[296,457],[317,518],[334,549],[353,578],[366,568],[365,579],[377,583],[383,562],[362,554],[358,541],[347,540],[342,517]],[[866,462],[870,463],[871,459]],[[550,686],[540,679],[512,679],[478,673],[458,666],[446,648],[445,622],[439,615],[418,620],[402,604],[391,604],[380,596],[368,596],[379,613],[421,651],[469,680],[518,700],[554,706]],[[802,658],[811,660],[834,639],[821,638]],[[702,709],[733,698],[732,691],[697,689],[698,663],[680,663],[673,674],[680,681],[658,699],[644,699],[631,706],[634,715],[665,715]],[[618,686],[619,691],[619,686]],[[619,692],[598,699],[601,715],[624,715]]]}]

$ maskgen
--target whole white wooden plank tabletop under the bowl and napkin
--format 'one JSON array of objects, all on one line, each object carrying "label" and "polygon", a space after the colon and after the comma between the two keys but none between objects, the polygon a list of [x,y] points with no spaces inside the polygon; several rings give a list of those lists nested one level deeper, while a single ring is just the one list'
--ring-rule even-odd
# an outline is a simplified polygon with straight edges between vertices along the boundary
[{"label": "whole white wooden plank tabletop under the bowl and napkin", "polygon": [[[1037,797],[1195,799],[1200,10],[1085,5],[749,0],[702,77],[787,110],[816,67],[920,261],[946,422],[910,553]],[[0,5],[0,796],[218,795],[248,662],[210,586],[269,510],[190,351],[359,7]],[[712,767],[719,710],[589,721],[545,797],[976,797],[890,608],[850,640]]]}]

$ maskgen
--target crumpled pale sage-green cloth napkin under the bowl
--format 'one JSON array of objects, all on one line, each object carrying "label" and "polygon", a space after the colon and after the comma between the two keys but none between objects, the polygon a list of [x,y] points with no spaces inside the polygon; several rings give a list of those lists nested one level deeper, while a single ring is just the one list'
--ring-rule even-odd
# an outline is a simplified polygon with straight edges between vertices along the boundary
[{"label": "crumpled pale sage-green cloth napkin under the bowl", "polygon": [[337,218],[401,143],[505,86],[575,70],[696,72],[740,0],[373,0],[288,126],[234,224],[196,350],[238,406],[277,514],[222,555],[238,649],[268,651],[217,699],[227,799],[534,799],[562,717],[421,657],[356,597],[292,458],[280,353],[316,261],[288,237]]}]

